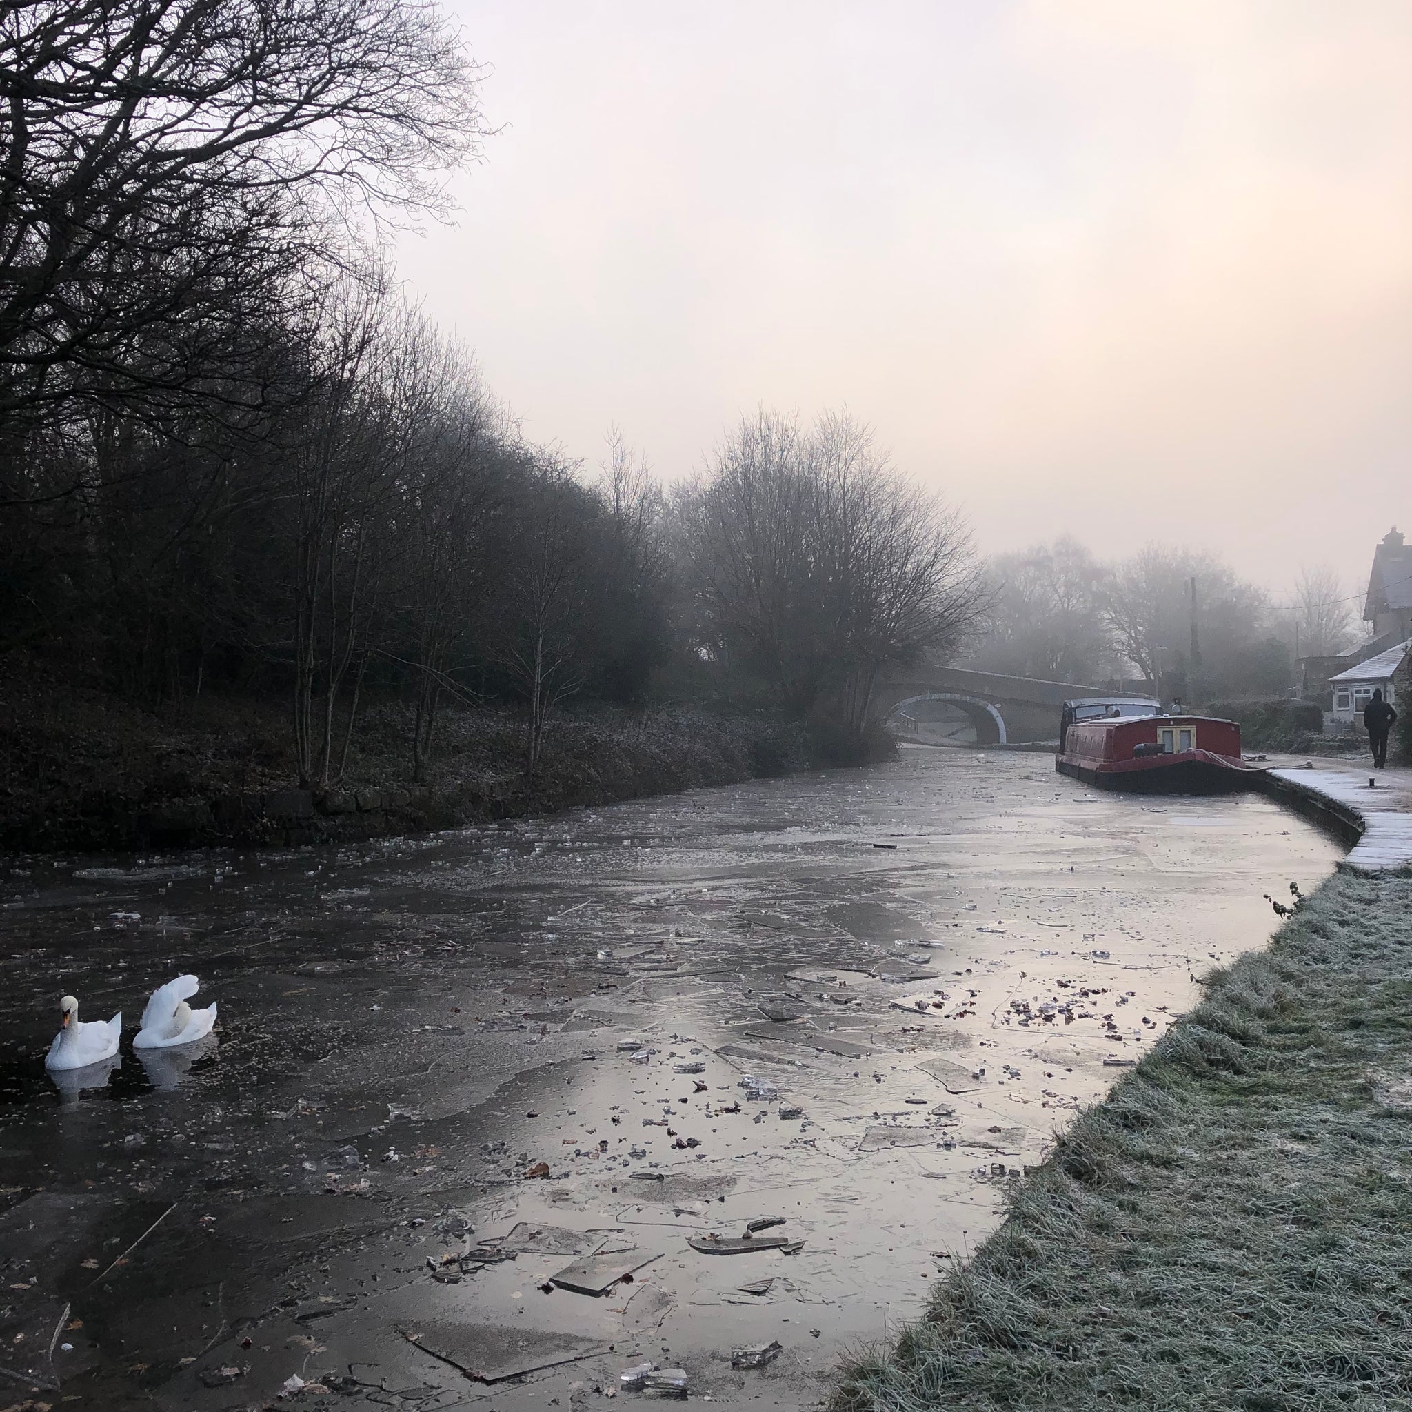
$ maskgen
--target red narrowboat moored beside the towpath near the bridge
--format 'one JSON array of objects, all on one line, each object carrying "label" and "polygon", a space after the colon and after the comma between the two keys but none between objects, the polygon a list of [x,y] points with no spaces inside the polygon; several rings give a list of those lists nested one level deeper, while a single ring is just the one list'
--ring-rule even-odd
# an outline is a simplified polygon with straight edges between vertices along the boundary
[{"label": "red narrowboat moored beside the towpath near the bridge", "polygon": [[1224,794],[1258,768],[1240,755],[1240,724],[1214,716],[1111,716],[1066,723],[1055,768],[1100,789]]}]

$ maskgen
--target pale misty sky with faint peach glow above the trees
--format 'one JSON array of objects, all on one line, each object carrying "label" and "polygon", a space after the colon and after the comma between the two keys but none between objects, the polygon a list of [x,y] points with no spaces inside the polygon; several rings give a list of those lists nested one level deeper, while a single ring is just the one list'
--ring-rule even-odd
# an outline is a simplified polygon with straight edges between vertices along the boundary
[{"label": "pale misty sky with faint peach glow above the trees", "polygon": [[504,131],[400,268],[527,435],[847,407],[986,552],[1350,592],[1412,534],[1412,6],[450,0]]}]

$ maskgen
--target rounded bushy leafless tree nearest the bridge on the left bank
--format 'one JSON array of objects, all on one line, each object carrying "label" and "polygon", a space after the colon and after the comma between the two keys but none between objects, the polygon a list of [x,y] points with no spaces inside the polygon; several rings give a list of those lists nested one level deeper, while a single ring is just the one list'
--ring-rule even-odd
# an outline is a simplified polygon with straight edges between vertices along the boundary
[{"label": "rounded bushy leafless tree nearest the bridge on the left bank", "polygon": [[685,511],[720,651],[795,714],[860,727],[884,665],[955,651],[976,618],[962,518],[846,412],[808,435],[765,412],[741,422]]}]

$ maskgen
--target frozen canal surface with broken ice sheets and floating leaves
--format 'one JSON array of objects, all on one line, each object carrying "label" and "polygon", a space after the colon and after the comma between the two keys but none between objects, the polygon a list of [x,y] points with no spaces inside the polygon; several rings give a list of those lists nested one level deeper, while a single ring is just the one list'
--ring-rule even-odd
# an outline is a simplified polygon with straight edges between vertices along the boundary
[{"label": "frozen canal surface with broken ice sheets and floating leaves", "polygon": [[[429,840],[25,860],[0,1405],[258,1408],[297,1377],[278,1406],[594,1406],[647,1361],[815,1405],[1193,977],[1269,936],[1262,894],[1339,853],[1260,796],[909,748]],[[134,1055],[182,970],[216,1035]],[[61,1093],[65,991],[127,1032]]]}]

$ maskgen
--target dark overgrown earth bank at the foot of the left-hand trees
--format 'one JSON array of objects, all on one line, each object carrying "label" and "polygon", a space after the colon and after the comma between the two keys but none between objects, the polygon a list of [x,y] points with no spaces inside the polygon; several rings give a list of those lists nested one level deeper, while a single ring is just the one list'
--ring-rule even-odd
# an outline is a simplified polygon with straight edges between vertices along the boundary
[{"label": "dark overgrown earth bank at the foot of the left-hand trees", "polygon": [[144,712],[90,688],[16,676],[0,688],[0,850],[147,850],[354,842],[551,813],[803,768],[801,729],[692,710],[565,713],[537,777],[522,727],[449,710],[425,784],[411,720],[373,706],[335,788],[298,785],[288,726],[263,700]]}]

